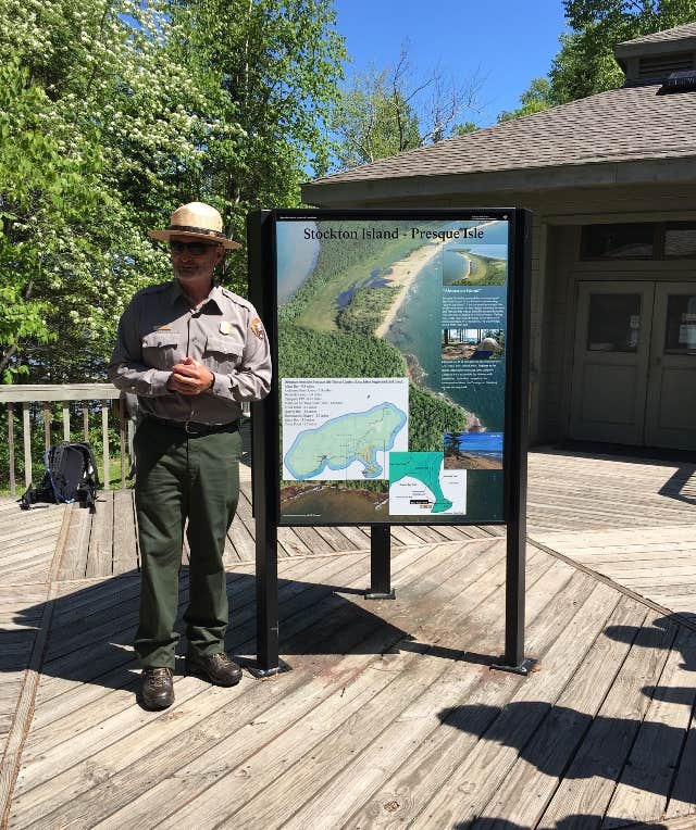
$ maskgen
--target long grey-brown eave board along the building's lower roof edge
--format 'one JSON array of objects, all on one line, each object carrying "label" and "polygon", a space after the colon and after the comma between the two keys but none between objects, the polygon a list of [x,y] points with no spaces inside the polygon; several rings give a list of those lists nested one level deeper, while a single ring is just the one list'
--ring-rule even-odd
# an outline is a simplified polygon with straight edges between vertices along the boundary
[{"label": "long grey-brown eave board along the building's lower roof edge", "polygon": [[403,176],[352,181],[308,181],[302,201],[318,208],[366,206],[395,199],[451,194],[525,192],[612,185],[696,181],[696,155],[636,161],[525,167],[490,173]]}]

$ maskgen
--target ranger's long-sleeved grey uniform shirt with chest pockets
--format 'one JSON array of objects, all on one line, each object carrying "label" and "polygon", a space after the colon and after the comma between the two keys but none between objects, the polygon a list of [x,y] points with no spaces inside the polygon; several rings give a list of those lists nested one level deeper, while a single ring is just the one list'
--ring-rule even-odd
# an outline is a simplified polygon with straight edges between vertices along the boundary
[{"label": "ranger's long-sleeved grey uniform shirt with chest pockets", "polygon": [[[172,367],[190,356],[214,375],[197,395],[170,392]],[[227,424],[243,401],[264,398],[271,385],[269,341],[251,303],[221,286],[195,309],[177,280],[138,291],[119,324],[109,377],[138,395],[144,415],[197,424]]]}]

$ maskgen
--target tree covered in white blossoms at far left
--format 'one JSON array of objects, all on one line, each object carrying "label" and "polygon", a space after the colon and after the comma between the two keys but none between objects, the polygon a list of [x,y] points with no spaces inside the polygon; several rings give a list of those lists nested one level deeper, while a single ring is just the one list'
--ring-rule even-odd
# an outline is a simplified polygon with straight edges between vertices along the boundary
[{"label": "tree covered in white blossoms at far left", "polygon": [[210,124],[154,4],[0,0],[0,369],[94,378],[123,303],[166,273],[145,231]]}]

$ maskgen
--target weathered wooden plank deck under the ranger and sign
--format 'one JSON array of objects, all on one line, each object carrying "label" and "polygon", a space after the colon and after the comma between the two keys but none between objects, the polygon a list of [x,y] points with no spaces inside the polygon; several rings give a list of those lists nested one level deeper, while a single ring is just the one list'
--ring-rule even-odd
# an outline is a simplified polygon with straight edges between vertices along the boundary
[{"label": "weathered wooden plank deck under the ranger and sign", "polygon": [[[130,494],[104,494],[94,521],[0,502],[4,822],[695,828],[696,468],[530,462],[530,677],[490,669],[499,528],[395,528],[394,602],[362,598],[364,530],[306,528],[284,532],[278,563],[291,671],[232,690],[179,671],[159,714],[134,695]],[[249,511],[226,551],[241,657],[254,653]]]}]

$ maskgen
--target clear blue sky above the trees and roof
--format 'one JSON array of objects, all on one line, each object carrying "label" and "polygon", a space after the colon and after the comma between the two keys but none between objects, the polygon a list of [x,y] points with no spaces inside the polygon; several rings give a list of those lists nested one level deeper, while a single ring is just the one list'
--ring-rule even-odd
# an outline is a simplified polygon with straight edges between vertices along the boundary
[{"label": "clear blue sky above the trees and roof", "polygon": [[408,39],[422,74],[439,66],[464,80],[485,77],[481,112],[460,118],[484,127],[518,106],[532,78],[546,75],[566,28],[561,0],[334,0],[334,8],[353,59],[347,75],[371,62],[393,65]]}]

